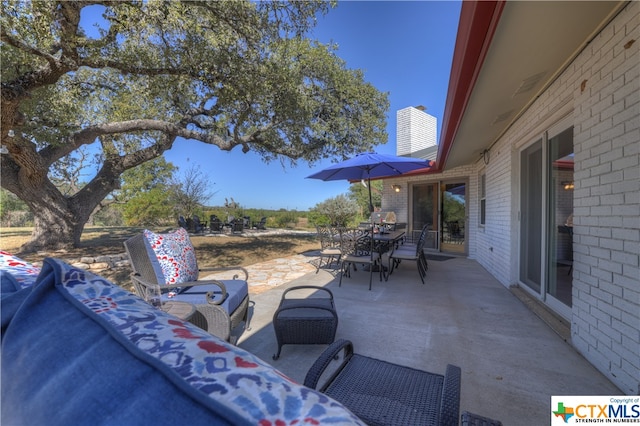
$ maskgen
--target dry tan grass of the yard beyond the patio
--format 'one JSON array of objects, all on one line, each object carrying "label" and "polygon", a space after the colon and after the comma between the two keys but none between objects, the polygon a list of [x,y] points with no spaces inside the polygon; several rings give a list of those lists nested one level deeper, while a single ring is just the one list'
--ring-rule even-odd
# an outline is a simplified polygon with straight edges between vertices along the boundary
[{"label": "dry tan grass of the yard beyond the patio", "polygon": [[[0,249],[36,263],[41,263],[45,257],[71,261],[84,256],[120,254],[125,252],[124,241],[142,232],[142,228],[86,227],[78,248],[48,253],[20,253],[20,247],[29,240],[31,231],[31,228],[0,228]],[[164,231],[166,230],[162,230]],[[315,235],[305,234],[260,235],[256,233],[255,237],[195,235],[191,237],[191,242],[196,249],[198,264],[201,266],[248,266],[320,248]],[[115,284],[133,291],[130,273],[130,268],[113,268],[98,272]]]}]

